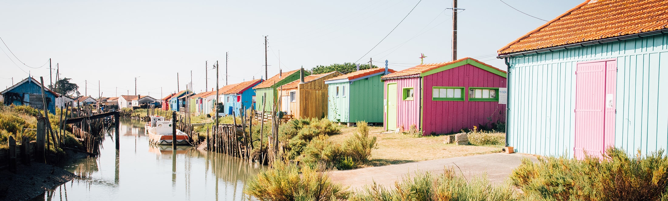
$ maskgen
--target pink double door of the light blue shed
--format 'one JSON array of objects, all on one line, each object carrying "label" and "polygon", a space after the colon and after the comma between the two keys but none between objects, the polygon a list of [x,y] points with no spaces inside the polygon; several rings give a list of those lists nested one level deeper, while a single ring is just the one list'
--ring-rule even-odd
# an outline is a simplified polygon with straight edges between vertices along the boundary
[{"label": "pink double door of the light blue shed", "polygon": [[578,63],[575,89],[575,145],[578,159],[601,157],[615,144],[616,61]]}]

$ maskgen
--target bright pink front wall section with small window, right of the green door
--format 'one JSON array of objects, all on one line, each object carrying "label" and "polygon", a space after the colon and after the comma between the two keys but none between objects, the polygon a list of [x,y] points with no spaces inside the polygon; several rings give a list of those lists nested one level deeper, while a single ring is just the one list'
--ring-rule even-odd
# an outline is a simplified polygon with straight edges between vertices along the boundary
[{"label": "bright pink front wall section with small window, right of the green door", "polygon": [[[389,83],[397,83],[397,128],[408,130],[413,124],[420,126],[420,78],[385,81],[385,88]],[[406,87],[413,87],[413,100],[401,100],[401,89]]]}]

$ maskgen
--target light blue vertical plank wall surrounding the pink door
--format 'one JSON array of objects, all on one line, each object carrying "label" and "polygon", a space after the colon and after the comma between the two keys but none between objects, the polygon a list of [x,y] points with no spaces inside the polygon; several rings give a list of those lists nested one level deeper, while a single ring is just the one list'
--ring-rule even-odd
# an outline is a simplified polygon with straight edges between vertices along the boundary
[{"label": "light blue vertical plank wall surrounding the pink door", "polygon": [[617,60],[615,146],[643,153],[668,146],[668,35],[512,57],[510,146],[544,156],[574,152],[575,67]]}]

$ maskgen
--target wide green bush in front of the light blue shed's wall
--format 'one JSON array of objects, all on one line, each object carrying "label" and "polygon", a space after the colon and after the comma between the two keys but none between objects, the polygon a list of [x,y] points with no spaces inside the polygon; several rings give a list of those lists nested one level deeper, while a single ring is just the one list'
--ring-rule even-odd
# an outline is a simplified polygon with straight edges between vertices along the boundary
[{"label": "wide green bush in front of the light blue shed's wall", "polygon": [[528,196],[544,200],[665,200],[668,157],[663,150],[635,157],[608,148],[603,159],[528,159],[510,178]]}]

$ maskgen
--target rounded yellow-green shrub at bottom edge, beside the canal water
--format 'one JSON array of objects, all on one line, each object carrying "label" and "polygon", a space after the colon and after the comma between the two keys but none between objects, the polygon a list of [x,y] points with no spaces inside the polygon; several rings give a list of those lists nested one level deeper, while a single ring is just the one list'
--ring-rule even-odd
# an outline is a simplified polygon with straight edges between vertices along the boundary
[{"label": "rounded yellow-green shrub at bottom edge, beside the canal water", "polygon": [[329,180],[327,174],[309,166],[275,162],[274,168],[261,170],[244,189],[244,193],[259,200],[345,200],[349,196],[339,184]]}]

